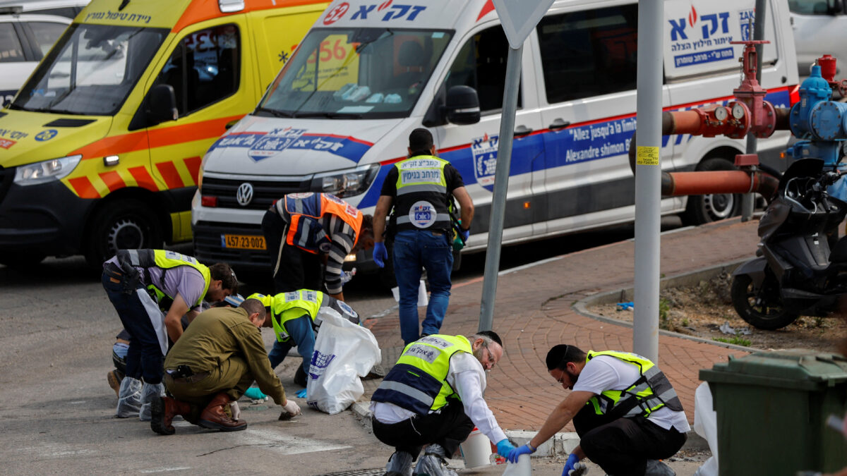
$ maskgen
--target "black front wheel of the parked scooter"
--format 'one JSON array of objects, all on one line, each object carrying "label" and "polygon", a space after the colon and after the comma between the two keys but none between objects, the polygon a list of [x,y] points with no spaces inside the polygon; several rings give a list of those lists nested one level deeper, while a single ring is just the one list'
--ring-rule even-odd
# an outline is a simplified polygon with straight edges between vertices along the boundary
[{"label": "black front wheel of the parked scooter", "polygon": [[785,309],[779,297],[779,284],[773,274],[767,273],[756,291],[753,280],[747,274],[733,277],[733,307],[747,323],[757,329],[776,330],[791,324],[798,314]]}]

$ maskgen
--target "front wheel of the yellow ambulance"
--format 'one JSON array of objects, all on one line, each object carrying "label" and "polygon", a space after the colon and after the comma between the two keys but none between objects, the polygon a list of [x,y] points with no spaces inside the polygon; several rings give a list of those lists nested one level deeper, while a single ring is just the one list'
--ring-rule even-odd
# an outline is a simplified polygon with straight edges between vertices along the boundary
[{"label": "front wheel of the yellow ambulance", "polygon": [[92,268],[102,266],[121,249],[163,246],[162,224],[144,202],[136,199],[107,203],[97,210],[89,230],[86,263]]}]

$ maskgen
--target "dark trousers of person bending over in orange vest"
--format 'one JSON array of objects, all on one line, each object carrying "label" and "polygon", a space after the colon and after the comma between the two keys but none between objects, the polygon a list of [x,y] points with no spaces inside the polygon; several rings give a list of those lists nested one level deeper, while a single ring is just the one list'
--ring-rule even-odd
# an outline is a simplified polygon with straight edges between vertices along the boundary
[{"label": "dark trousers of person bending over in orange vest", "polygon": [[304,252],[285,244],[288,224],[274,209],[265,212],[262,233],[268,245],[271,269],[274,272],[274,292],[310,289],[323,291],[320,255]]}]

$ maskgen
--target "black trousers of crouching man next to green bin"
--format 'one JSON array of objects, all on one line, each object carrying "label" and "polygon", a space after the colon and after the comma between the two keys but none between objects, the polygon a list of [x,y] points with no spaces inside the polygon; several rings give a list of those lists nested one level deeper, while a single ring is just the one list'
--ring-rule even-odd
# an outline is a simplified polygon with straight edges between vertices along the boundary
[{"label": "black trousers of crouching man next to green bin", "polygon": [[586,405],[573,418],[586,457],[613,476],[643,476],[649,459],[672,457],[687,438],[644,417],[608,418]]}]

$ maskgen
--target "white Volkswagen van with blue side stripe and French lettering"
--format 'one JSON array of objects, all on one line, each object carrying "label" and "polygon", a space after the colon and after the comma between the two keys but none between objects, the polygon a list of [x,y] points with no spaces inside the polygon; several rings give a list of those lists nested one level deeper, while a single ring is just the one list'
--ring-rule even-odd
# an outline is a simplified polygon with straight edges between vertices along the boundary
[{"label": "white Volkswagen van with blue side stripe and French lettering", "polygon": [[[730,42],[750,38],[754,3],[665,2],[665,110],[732,98],[742,46]],[[633,221],[637,17],[634,0],[557,0],[524,43],[503,243]],[[766,20],[762,84],[788,108],[797,68],[787,5],[769,2]],[[268,268],[260,222],[285,193],[331,192],[372,212],[422,125],[473,198],[465,249],[484,250],[507,54],[490,0],[335,0],[256,110],[203,158],[195,255]],[[481,116],[461,112],[477,98]],[[760,150],[788,139],[775,134]],[[731,169],[744,150],[726,137],[665,137],[662,169]],[[737,211],[737,198],[667,198],[662,213],[703,223]],[[369,268],[370,253],[356,259]]]}]

